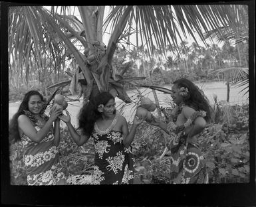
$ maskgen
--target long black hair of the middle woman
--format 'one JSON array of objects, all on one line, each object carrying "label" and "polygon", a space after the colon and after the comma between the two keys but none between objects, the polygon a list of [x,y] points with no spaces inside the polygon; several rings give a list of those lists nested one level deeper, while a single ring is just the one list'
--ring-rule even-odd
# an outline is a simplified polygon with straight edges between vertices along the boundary
[{"label": "long black hair of the middle woman", "polygon": [[84,135],[92,134],[94,123],[101,116],[98,106],[108,104],[109,100],[114,100],[114,97],[108,92],[101,92],[82,106],[78,115],[78,129],[81,129]]}]

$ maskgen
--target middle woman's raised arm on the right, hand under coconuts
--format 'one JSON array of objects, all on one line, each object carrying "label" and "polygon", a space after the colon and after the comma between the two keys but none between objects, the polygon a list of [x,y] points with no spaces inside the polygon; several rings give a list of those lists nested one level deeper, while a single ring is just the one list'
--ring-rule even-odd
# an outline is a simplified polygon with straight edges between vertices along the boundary
[{"label": "middle woman's raised arm on the right, hand under coconuts", "polygon": [[130,132],[128,131],[128,124],[127,121],[124,117],[120,117],[120,119],[122,119],[122,133],[123,133],[123,143],[125,147],[129,147],[130,144],[132,143],[132,141],[134,140],[134,135],[136,133],[136,129],[138,127],[138,125],[140,125],[140,123],[142,123],[142,121],[144,121],[144,119],[137,119],[134,116],[134,120],[132,123],[132,127],[130,129]]}]

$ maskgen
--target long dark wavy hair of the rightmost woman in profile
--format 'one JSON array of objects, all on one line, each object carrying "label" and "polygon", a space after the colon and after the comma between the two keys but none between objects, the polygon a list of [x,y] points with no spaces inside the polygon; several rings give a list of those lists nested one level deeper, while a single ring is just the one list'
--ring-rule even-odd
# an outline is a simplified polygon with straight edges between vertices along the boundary
[{"label": "long dark wavy hair of the rightmost woman in profile", "polygon": [[188,88],[188,96],[184,97],[184,104],[193,107],[195,110],[203,110],[206,112],[205,120],[209,123],[211,121],[211,105],[209,105],[209,100],[193,82],[186,78],[180,78],[173,82],[178,88]]}]

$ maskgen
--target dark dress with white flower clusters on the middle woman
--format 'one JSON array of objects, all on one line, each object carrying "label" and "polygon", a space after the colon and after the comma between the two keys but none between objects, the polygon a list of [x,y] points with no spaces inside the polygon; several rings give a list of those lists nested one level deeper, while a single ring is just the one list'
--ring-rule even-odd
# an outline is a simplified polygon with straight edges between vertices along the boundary
[{"label": "dark dress with white flower clusters on the middle woman", "polygon": [[122,132],[114,131],[118,114],[108,129],[100,131],[96,123],[92,137],[95,144],[94,184],[130,184],[134,177],[131,147],[124,147]]}]

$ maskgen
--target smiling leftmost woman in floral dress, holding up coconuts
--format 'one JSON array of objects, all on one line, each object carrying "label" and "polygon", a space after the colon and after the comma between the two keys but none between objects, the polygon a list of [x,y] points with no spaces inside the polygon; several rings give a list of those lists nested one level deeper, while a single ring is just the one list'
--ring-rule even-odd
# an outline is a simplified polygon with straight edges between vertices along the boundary
[{"label": "smiling leftmost woman in floral dress, holding up coconuts", "polygon": [[23,144],[28,185],[65,184],[57,150],[60,142],[57,117],[62,110],[53,107],[48,117],[42,109],[43,96],[34,90],[27,92],[11,121],[9,137]]}]

